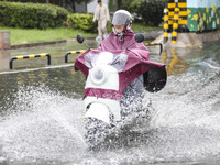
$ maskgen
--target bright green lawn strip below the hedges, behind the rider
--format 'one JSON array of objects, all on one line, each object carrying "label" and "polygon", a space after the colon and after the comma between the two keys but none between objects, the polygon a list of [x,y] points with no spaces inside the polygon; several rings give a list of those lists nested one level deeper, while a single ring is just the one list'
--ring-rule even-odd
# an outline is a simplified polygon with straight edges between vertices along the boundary
[{"label": "bright green lawn strip below the hedges, behind the rider", "polygon": [[[16,28],[1,28],[0,30],[8,30],[11,32],[11,44],[22,44],[22,43],[34,43],[54,40],[67,40],[69,37],[76,37],[77,34],[81,33],[85,37],[97,36],[97,33],[86,33],[79,30],[58,28],[58,29],[47,29],[47,30],[24,30]],[[133,23],[132,30],[134,32],[162,30],[162,28],[145,26],[141,23]],[[111,25],[108,23],[108,31],[111,32]]]}]

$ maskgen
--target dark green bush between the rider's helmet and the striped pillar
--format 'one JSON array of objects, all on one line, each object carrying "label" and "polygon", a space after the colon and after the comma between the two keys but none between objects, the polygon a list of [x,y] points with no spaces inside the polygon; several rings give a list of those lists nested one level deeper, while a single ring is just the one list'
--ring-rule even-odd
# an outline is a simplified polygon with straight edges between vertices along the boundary
[{"label": "dark green bush between the rider's helmet and the striped pillar", "polygon": [[141,2],[138,13],[145,24],[158,26],[164,15],[163,0],[146,0]]}]

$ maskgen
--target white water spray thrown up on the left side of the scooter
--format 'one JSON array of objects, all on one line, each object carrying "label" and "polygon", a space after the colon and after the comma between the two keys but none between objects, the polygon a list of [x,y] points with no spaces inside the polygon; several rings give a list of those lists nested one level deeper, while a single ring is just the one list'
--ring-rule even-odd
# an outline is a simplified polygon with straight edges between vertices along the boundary
[{"label": "white water spray thrown up on the left side of the scooter", "polygon": [[1,160],[65,162],[84,155],[82,101],[44,86],[22,87],[15,97],[0,120]]}]

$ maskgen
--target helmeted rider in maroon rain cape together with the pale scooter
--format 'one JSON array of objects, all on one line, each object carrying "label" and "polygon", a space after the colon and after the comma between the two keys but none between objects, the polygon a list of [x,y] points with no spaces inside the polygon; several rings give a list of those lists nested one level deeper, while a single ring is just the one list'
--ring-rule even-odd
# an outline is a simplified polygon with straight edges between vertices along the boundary
[{"label": "helmeted rider in maroon rain cape together with the pale scooter", "polygon": [[[148,61],[144,36],[134,35],[128,11],[117,11],[113,32],[98,50],[89,48],[75,61],[75,69],[86,76],[85,140],[90,148],[103,142],[112,130],[130,128],[139,117],[147,117],[148,108],[142,103],[145,89],[155,92],[166,84],[165,65]],[[84,37],[78,34],[77,41],[84,43]]]}]

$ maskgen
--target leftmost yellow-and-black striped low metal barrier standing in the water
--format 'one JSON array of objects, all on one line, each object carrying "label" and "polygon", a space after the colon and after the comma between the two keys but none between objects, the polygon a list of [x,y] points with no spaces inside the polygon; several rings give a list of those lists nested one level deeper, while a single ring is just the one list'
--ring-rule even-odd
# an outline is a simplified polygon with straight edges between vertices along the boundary
[{"label": "leftmost yellow-and-black striped low metal barrier standing in the water", "polygon": [[35,54],[35,55],[24,55],[24,56],[14,56],[10,59],[10,69],[13,68],[13,61],[15,59],[26,59],[26,58],[37,58],[37,57],[47,57],[47,64],[51,65],[51,55],[48,53]]}]

